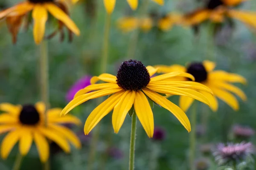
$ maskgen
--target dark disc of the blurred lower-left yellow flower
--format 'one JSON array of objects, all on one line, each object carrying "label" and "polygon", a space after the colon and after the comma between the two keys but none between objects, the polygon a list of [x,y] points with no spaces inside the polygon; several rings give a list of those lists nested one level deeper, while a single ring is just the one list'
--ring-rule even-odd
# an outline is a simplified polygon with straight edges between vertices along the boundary
[{"label": "dark disc of the blurred lower-left yellow flower", "polygon": [[40,120],[40,116],[33,105],[23,105],[19,119],[23,125],[36,125]]}]

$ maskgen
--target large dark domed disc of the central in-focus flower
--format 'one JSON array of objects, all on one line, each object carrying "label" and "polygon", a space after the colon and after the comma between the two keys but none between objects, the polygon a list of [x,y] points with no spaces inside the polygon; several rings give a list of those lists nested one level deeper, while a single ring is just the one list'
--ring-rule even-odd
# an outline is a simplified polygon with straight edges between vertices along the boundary
[{"label": "large dark domed disc of the central in-focus flower", "polygon": [[125,90],[140,90],[150,81],[147,68],[142,62],[130,59],[120,66],[116,75],[116,83]]}]

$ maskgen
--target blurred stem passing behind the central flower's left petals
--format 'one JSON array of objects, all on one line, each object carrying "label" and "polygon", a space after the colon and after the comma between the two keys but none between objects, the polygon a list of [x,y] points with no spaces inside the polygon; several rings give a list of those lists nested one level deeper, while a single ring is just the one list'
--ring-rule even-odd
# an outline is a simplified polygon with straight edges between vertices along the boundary
[{"label": "blurred stem passing behind the central flower's left petals", "polygon": [[[102,57],[100,59],[100,74],[105,73],[108,65],[108,45],[109,45],[109,35],[111,27],[111,14],[106,14],[105,28],[104,28],[104,37],[103,37],[103,46],[102,46]],[[102,98],[98,98],[98,104],[102,103]],[[96,146],[99,139],[100,124],[95,127],[95,131],[92,136],[90,143],[89,151],[89,160],[88,160],[88,170],[93,169],[93,163],[96,155]]]}]

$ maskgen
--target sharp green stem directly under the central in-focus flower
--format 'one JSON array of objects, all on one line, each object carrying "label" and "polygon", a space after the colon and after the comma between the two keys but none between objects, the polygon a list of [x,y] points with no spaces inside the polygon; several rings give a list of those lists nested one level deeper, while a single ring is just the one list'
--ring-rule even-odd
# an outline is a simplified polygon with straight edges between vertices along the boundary
[{"label": "sharp green stem directly under the central in-focus flower", "polygon": [[129,170],[134,170],[134,156],[135,156],[135,139],[136,139],[136,124],[137,116],[134,112],[131,116],[131,140],[130,140],[130,156],[129,156]]}]

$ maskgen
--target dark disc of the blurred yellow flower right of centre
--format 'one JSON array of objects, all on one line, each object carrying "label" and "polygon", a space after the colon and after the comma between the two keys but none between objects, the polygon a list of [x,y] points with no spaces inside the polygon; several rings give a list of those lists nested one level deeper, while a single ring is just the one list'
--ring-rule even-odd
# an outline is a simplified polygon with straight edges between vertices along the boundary
[{"label": "dark disc of the blurred yellow flower right of centre", "polygon": [[186,72],[192,74],[196,82],[204,82],[207,79],[207,71],[201,62],[192,62]]}]

